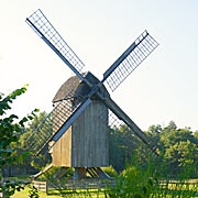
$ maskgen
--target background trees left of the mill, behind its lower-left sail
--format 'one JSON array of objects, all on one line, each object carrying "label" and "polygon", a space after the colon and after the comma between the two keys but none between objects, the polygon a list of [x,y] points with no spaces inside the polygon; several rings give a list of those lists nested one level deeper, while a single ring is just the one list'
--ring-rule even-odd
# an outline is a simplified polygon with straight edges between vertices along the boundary
[{"label": "background trees left of the mill, behind its lower-left sail", "polygon": [[[37,127],[43,122],[46,117],[46,112],[41,112],[38,114],[34,114],[33,118],[25,124],[22,130],[22,133],[19,136],[18,142],[12,142],[10,147],[14,150],[12,156],[19,156],[18,161],[15,161],[12,166],[7,166],[12,170],[18,172],[18,174],[35,174],[35,172],[42,169],[46,164],[51,163],[51,154],[46,153],[45,155],[34,156],[33,153],[30,152],[30,147],[26,143],[26,140],[32,135],[33,132],[37,129]],[[45,129],[47,130],[47,129]],[[45,133],[46,131],[41,131],[41,133]],[[26,157],[29,156],[29,157]],[[22,169],[20,167],[23,167]]]}]

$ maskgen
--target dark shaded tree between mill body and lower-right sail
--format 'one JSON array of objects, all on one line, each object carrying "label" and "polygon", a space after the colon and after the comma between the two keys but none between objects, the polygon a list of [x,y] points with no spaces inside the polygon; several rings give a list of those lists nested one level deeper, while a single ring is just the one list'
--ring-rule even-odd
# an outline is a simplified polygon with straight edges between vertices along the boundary
[{"label": "dark shaded tree between mill body and lower-right sail", "polygon": [[110,131],[110,164],[117,170],[125,168],[125,163],[131,163],[134,157],[140,164],[145,163],[148,157],[150,148],[131,131],[121,124]]}]

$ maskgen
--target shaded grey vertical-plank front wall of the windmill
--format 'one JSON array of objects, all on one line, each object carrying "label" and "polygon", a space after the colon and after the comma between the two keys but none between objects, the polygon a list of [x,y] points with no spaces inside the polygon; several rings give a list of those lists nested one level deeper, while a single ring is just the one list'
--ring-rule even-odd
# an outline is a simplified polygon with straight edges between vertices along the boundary
[{"label": "shaded grey vertical-plank front wall of the windmill", "polygon": [[99,119],[101,113],[108,121],[107,107],[100,100],[92,100],[92,103],[73,124],[73,167],[106,167],[109,165],[108,130]]}]

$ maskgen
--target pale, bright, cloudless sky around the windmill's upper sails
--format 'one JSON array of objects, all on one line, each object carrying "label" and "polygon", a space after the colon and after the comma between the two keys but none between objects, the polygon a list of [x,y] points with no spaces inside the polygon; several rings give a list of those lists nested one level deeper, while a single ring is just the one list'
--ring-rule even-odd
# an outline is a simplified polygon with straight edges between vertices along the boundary
[{"label": "pale, bright, cloudless sky around the windmill's upper sails", "polygon": [[196,0],[1,0],[0,92],[29,84],[16,114],[50,111],[61,85],[73,75],[24,22],[41,9],[85,63],[105,70],[144,31],[160,46],[111,95],[142,130],[151,124],[198,130],[198,1]]}]

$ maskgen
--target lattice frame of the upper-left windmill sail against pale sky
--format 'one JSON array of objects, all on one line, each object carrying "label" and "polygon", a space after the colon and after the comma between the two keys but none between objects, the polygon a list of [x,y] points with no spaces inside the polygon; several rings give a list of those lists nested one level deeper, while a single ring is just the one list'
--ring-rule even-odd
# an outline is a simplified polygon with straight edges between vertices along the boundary
[{"label": "lattice frame of the upper-left windmill sail against pale sky", "polygon": [[51,44],[80,73],[85,64],[73,52],[64,38],[38,9],[25,22],[40,37],[45,37]]}]

